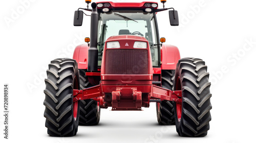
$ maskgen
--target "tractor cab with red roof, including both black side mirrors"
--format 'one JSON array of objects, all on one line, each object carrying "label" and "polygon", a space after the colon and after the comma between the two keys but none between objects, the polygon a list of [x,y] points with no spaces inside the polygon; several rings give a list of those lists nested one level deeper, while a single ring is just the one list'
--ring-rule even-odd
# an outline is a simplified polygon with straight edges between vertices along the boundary
[{"label": "tractor cab with red roof, including both black side mirrors", "polygon": [[[90,1],[87,1],[87,3],[89,5]],[[164,4],[164,2],[162,3]],[[74,26],[82,25],[83,12],[79,9],[75,12]],[[106,40],[108,40],[111,36],[117,35],[135,35],[146,39],[151,53],[152,66],[160,67],[160,45],[162,45],[162,43],[160,43],[158,34],[156,13],[173,8],[158,9],[158,3],[156,2],[98,2],[95,5],[95,9],[94,14],[97,13],[97,15],[95,15],[97,16],[97,19],[91,16],[93,18],[93,20],[91,20],[91,34],[93,32],[93,37],[97,36],[97,40],[94,39],[94,41],[97,42],[96,46],[98,54],[96,55],[95,51],[94,54],[89,54],[89,70],[92,69],[91,71],[96,71],[101,67]],[[92,9],[89,9],[89,6],[87,9],[82,10],[92,11]],[[179,25],[178,13],[174,9],[169,11],[169,19],[170,25]],[[95,33],[97,33],[97,35],[95,35]],[[91,36],[91,39],[93,37]],[[95,61],[96,58],[94,57],[92,60],[90,60],[90,55],[97,56],[97,63],[93,63],[93,66],[90,66],[90,61]]]}]

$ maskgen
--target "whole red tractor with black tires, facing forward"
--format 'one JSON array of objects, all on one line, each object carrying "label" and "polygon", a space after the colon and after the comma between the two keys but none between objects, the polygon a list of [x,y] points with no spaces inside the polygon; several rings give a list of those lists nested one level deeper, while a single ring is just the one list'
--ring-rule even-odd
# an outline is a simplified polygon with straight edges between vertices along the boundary
[{"label": "whole red tractor with black tires, facing forward", "polygon": [[[138,110],[156,103],[159,125],[176,125],[180,136],[205,136],[209,130],[210,83],[205,62],[180,59],[176,46],[163,44],[156,13],[174,8],[158,3],[89,3],[91,35],[78,45],[73,59],[55,59],[47,70],[44,116],[51,136],[74,136],[78,125],[97,125],[100,109]],[[166,1],[161,0],[164,3]],[[89,43],[90,42],[90,43]]]}]

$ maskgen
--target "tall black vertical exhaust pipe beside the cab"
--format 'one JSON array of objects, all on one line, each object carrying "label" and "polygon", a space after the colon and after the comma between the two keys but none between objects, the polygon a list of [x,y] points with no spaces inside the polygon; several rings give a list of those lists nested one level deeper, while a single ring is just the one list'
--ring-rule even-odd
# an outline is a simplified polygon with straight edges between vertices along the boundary
[{"label": "tall black vertical exhaust pipe beside the cab", "polygon": [[92,3],[91,43],[88,51],[88,71],[98,71],[98,12],[96,3]]}]

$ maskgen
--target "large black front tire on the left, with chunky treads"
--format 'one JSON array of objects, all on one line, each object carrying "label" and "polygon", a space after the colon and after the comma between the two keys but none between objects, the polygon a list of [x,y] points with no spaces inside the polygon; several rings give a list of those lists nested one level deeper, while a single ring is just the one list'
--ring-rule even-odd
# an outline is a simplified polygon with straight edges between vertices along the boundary
[{"label": "large black front tire on the left, with chunky treads", "polygon": [[47,133],[74,136],[79,123],[79,102],[73,103],[73,89],[79,89],[77,63],[73,59],[55,59],[49,64],[44,105]]}]

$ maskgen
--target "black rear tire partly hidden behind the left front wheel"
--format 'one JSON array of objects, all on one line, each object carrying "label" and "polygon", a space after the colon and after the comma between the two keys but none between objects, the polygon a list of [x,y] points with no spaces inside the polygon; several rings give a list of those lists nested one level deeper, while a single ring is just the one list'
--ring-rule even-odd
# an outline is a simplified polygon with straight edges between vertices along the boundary
[{"label": "black rear tire partly hidden behind the left front wheel", "polygon": [[[86,76],[86,70],[79,69],[80,89],[92,87]],[[98,102],[92,99],[79,101],[80,116],[79,125],[98,125],[100,120],[100,107]]]}]

